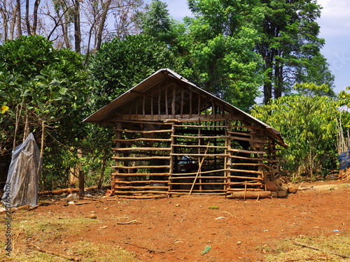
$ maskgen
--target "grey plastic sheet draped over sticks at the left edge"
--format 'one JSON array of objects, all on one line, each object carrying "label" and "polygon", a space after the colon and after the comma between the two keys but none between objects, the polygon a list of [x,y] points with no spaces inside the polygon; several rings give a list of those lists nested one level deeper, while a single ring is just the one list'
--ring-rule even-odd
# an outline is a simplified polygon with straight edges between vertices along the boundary
[{"label": "grey plastic sheet draped over sticks at the left edge", "polygon": [[[3,194],[2,202],[11,208],[38,204],[38,184],[41,173],[40,152],[32,133],[12,152],[6,185],[10,188],[10,202]],[[6,198],[7,197],[7,198]],[[6,200],[6,201],[5,201]]]}]

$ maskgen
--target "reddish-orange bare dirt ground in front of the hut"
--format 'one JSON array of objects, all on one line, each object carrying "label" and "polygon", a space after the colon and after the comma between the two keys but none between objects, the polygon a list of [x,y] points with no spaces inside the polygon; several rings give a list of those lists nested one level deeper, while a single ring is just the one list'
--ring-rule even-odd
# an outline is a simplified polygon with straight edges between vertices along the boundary
[{"label": "reddish-orange bare dirt ground in front of the hut", "polygon": [[[141,261],[264,261],[264,246],[300,235],[350,233],[350,182],[298,185],[288,198],[235,200],[181,196],[149,200],[101,198],[85,205],[56,201],[35,212],[52,219],[97,216],[66,242],[120,247]],[[54,249],[50,243],[43,247]],[[57,250],[58,251],[58,250]]]}]

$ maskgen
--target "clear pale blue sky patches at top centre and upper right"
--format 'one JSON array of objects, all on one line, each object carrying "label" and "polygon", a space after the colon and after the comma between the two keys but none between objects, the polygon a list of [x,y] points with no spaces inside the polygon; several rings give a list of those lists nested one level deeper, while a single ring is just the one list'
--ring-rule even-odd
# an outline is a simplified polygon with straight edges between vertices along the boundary
[{"label": "clear pale blue sky patches at top centre and upper right", "polygon": [[[162,0],[168,5],[169,14],[176,20],[191,16],[187,0]],[[321,18],[317,20],[321,27],[319,38],[325,39],[321,53],[330,64],[335,75],[334,91],[339,93],[350,86],[350,1],[318,0],[322,7]]]}]

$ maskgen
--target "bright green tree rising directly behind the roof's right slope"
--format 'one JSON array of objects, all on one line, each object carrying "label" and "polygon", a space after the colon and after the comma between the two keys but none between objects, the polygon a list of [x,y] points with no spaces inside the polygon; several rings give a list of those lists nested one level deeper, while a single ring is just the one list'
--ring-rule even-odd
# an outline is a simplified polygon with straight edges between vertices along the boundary
[{"label": "bright green tree rising directly behind the roof's right slope", "polygon": [[188,53],[185,76],[212,94],[247,110],[261,83],[257,24],[262,21],[260,1],[190,0],[195,18],[180,45]]}]

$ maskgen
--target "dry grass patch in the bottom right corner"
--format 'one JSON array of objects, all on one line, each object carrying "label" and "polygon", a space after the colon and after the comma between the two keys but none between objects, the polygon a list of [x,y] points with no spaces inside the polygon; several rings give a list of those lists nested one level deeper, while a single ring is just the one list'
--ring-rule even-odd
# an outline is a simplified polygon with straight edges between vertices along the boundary
[{"label": "dry grass patch in the bottom right corner", "polygon": [[[306,245],[317,247],[329,252],[311,249],[309,247],[302,247],[296,245],[295,242],[302,242]],[[279,242],[270,254],[265,255],[265,261],[267,262],[287,262],[287,261],[327,261],[327,262],[339,262],[349,261],[341,256],[332,254],[343,254],[350,256],[350,236],[349,235],[318,235],[316,237],[301,237],[286,239]],[[258,247],[259,248],[259,247]],[[263,250],[262,250],[263,251]],[[270,250],[266,250],[268,252]],[[264,252],[264,253],[265,253]]]}]

